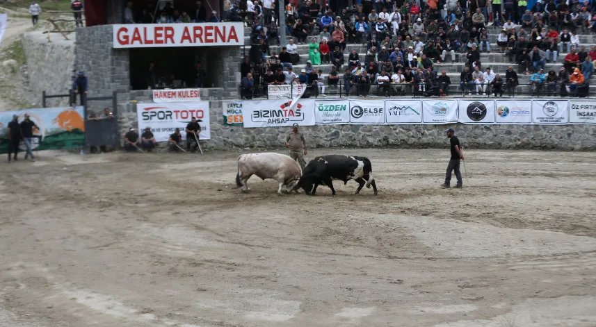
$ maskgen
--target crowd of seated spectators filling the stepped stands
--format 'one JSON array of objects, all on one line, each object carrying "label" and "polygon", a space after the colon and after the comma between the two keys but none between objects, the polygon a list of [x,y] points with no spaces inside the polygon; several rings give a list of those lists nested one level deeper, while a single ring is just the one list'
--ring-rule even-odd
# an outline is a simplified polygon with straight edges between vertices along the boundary
[{"label": "crowd of seated spectators filling the stepped stands", "polygon": [[[339,8],[336,1],[325,6],[311,0],[289,3],[284,28],[293,39],[279,54],[270,50],[280,42],[277,10],[266,12],[258,1],[252,4],[258,13],[243,18],[252,27],[253,46],[242,74],[251,72],[254,78],[245,88],[250,94],[265,94],[268,84],[302,82],[324,94],[322,86],[333,87],[342,79],[342,91],[362,96],[371,85],[378,94],[446,96],[451,79],[435,64],[456,62],[456,56],[465,58],[462,94],[513,95],[517,74],[529,77],[532,92],[586,94],[596,64],[596,47],[588,51],[579,41],[579,33],[596,33],[596,1],[538,1],[532,8],[512,0],[363,1],[355,8]],[[492,39],[489,25],[500,31]],[[491,40],[497,47],[491,49]],[[291,68],[301,63],[297,46],[303,44],[308,47],[305,72],[294,76]],[[345,53],[346,44],[366,47],[364,58],[356,51]],[[508,58],[505,76],[483,67],[481,53]],[[545,74],[545,65],[559,56],[565,56],[562,67]],[[332,72],[324,76],[319,65],[332,65]]]}]

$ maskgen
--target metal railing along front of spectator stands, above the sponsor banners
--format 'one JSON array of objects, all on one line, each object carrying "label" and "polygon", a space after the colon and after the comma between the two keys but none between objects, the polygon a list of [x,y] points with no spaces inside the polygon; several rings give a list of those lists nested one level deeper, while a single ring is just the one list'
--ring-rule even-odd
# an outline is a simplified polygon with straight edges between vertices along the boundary
[{"label": "metal railing along front of spectator stands, above the sponsor banners", "polygon": [[[442,88],[446,86],[446,88]],[[345,98],[345,97],[590,97],[590,87],[596,84],[571,83],[523,83],[503,84],[495,88],[490,84],[451,83],[441,85],[420,85],[419,83],[353,83],[349,87],[340,78],[337,84],[308,85],[302,98]],[[441,92],[441,90],[443,92]],[[293,92],[293,91],[291,91]],[[251,89],[240,86],[241,99],[269,99],[267,85],[261,84]],[[442,95],[444,94],[444,95]],[[294,94],[291,94],[293,98]]]}]

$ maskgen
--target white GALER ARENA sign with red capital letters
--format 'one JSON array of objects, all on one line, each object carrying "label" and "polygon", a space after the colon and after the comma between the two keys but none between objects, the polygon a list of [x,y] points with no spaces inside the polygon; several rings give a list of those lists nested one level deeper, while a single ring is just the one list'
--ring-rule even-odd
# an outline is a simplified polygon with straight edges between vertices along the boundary
[{"label": "white GALER ARENA sign with red capital letters", "polygon": [[213,47],[244,44],[242,23],[115,24],[114,48]]}]

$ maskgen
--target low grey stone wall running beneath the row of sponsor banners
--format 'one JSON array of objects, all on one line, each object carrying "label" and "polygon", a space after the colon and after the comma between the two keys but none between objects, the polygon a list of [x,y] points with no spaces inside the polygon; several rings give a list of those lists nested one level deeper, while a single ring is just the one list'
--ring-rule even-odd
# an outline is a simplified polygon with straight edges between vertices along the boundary
[{"label": "low grey stone wall running beneath the row of sponsor banners", "polygon": [[[230,147],[278,148],[290,128],[243,128],[224,126],[220,94],[209,89],[202,98],[210,101],[211,140],[204,149]],[[122,135],[128,126],[137,127],[136,105],[130,104],[119,119]],[[596,126],[589,125],[317,125],[303,126],[310,147],[393,146],[406,149],[445,148],[444,135],[452,127],[462,145],[473,149],[558,149],[565,151],[596,150]]]}]

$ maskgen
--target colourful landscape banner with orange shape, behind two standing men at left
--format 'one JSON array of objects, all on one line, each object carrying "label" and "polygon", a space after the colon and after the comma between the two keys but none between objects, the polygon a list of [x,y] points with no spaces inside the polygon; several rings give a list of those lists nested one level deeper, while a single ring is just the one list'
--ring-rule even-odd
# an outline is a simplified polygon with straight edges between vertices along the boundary
[{"label": "colourful landscape banner with orange shape, behind two standing men at left", "polygon": [[[13,120],[13,115],[19,116],[20,124],[25,114],[37,125],[33,128],[31,144],[34,150],[73,149],[86,145],[82,106],[3,111],[0,112],[0,153],[8,152],[8,123]],[[19,148],[26,149],[23,142]]]}]

